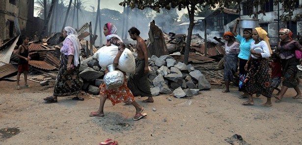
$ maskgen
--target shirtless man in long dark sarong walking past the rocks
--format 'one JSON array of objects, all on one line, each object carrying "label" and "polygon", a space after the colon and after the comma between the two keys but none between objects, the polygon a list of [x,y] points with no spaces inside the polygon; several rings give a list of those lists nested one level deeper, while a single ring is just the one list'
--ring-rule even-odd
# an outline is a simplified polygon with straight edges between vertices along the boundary
[{"label": "shirtless man in long dark sarong walking past the rocks", "polygon": [[132,73],[128,80],[128,87],[134,96],[148,97],[142,102],[153,102],[148,82],[148,51],[145,41],[139,36],[140,32],[136,27],[128,30],[130,38],[137,41],[137,59],[135,73]]}]

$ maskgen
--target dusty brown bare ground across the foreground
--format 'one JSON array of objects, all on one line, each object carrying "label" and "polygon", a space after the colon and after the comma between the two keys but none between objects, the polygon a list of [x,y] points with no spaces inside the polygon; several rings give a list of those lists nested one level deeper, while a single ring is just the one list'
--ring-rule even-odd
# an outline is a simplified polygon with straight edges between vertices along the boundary
[{"label": "dusty brown bare ground across the foreground", "polygon": [[213,86],[182,99],[160,95],[154,103],[136,97],[148,115],[133,121],[132,105],[112,106],[108,100],[105,117],[89,117],[99,106],[98,96],[85,95],[82,102],[61,97],[46,104],[43,98],[52,95],[52,85],[28,83],[33,87],[15,90],[16,82],[0,81],[1,145],[99,145],[106,139],[118,145],[230,145],[225,139],[234,134],[247,145],[302,144],[302,99],[291,98],[294,89],[281,103],[273,98],[269,108],[260,106],[263,96],[254,99],[254,106],[241,105],[246,99],[237,98],[236,87],[221,93],[221,87]]}]

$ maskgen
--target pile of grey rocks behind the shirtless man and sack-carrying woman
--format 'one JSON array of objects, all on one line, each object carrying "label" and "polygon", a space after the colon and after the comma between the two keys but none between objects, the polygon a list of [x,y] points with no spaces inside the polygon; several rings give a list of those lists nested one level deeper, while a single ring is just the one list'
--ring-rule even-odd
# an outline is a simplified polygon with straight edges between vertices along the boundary
[{"label": "pile of grey rocks behind the shirtless man and sack-carrying woman", "polygon": [[[176,62],[169,55],[160,58],[152,56],[148,62],[148,81],[152,96],[173,93],[177,98],[192,97],[199,94],[199,90],[211,88],[204,75],[191,64]],[[83,60],[80,67],[82,90],[98,95],[104,73],[105,70],[99,66],[98,60],[92,57]]]}]

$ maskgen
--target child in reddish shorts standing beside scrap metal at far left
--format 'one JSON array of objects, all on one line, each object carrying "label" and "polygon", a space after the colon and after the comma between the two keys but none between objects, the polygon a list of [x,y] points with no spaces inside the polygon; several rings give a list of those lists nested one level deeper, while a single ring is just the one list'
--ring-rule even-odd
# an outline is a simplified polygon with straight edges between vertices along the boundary
[{"label": "child in reddish shorts standing beside scrap metal at far left", "polygon": [[23,43],[19,46],[19,48],[17,50],[17,56],[19,57],[17,86],[16,86],[17,90],[21,89],[20,84],[19,84],[21,73],[24,74],[25,86],[30,87],[30,85],[27,84],[28,61],[30,60],[30,57],[28,55],[28,46],[27,46],[27,43],[29,42],[29,37],[23,36],[22,41],[23,41]]}]

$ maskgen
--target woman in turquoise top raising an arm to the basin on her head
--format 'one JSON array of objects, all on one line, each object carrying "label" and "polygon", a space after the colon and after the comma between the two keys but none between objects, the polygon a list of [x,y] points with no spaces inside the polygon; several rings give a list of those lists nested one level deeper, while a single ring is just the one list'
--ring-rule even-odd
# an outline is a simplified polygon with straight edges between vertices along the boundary
[{"label": "woman in turquoise top raising an arm to the basin on her head", "polygon": [[[237,19],[234,28],[233,28],[233,34],[235,38],[240,41],[240,53],[238,55],[239,58],[239,75],[240,75],[240,81],[239,81],[239,91],[243,91],[243,81],[245,80],[245,77],[247,75],[247,71],[245,70],[245,65],[247,63],[248,57],[250,55],[250,43],[253,41],[252,39],[252,29],[245,28],[243,30],[243,37],[237,34],[236,29],[238,25],[239,19]],[[243,91],[244,94],[238,98],[247,98],[248,94],[247,92]]]}]

